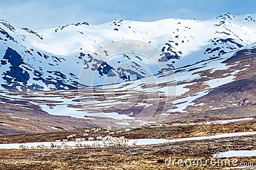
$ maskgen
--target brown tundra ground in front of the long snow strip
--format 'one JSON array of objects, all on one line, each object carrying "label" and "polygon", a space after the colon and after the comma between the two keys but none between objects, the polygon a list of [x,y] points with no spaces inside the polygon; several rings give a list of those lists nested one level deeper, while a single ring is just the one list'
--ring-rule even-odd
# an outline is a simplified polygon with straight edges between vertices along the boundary
[{"label": "brown tundra ground in front of the long snow strip", "polygon": [[[77,150],[0,150],[1,169],[222,169],[232,166],[166,166],[165,160],[210,159],[224,150],[255,150],[256,136],[205,141],[186,141],[129,148],[87,148]],[[236,143],[236,145],[234,145]],[[256,157],[241,157],[256,165]],[[232,160],[230,159],[230,160]],[[218,160],[218,159],[217,159]],[[222,159],[219,159],[222,160]],[[250,168],[252,169],[252,168]]]}]

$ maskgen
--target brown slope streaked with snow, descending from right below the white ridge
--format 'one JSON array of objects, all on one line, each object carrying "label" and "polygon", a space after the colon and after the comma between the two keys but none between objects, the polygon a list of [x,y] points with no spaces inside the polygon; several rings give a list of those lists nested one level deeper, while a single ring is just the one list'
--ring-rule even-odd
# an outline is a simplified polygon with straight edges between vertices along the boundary
[{"label": "brown slope streaked with snow, descending from right below the white ridge", "polygon": [[[256,117],[255,44],[218,58],[174,69],[177,82],[168,77],[173,71],[118,85],[83,90],[9,92],[2,90],[1,103],[29,111],[56,115],[61,125],[67,116],[100,126],[138,125],[145,122],[202,122]],[[250,56],[250,57],[248,57]],[[163,76],[164,75],[164,76]],[[164,78],[165,77],[165,78]],[[151,76],[148,79],[152,79]],[[12,117],[30,118],[26,114]],[[13,125],[10,115],[4,124]],[[51,120],[52,121],[52,120]],[[15,125],[13,125],[15,126]],[[48,126],[45,129],[49,128]]]}]

